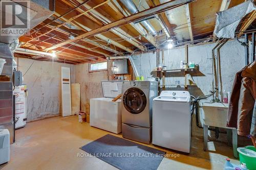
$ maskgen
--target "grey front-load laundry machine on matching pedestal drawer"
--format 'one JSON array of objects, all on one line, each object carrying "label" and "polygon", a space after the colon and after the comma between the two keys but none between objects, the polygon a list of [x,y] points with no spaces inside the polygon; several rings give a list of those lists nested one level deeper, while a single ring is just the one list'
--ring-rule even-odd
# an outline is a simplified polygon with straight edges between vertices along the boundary
[{"label": "grey front-load laundry machine on matching pedestal drawer", "polygon": [[152,140],[152,104],[158,95],[155,81],[130,81],[122,86],[122,135],[143,143]]}]

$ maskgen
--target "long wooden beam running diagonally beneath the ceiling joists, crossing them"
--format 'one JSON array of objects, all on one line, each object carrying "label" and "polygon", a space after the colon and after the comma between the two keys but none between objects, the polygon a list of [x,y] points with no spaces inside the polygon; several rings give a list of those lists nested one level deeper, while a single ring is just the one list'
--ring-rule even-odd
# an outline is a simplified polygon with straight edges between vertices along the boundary
[{"label": "long wooden beam running diagonally beneath the ceiling joists, crossing them", "polygon": [[89,31],[87,33],[84,33],[82,35],[79,35],[79,36],[75,37],[74,39],[63,41],[63,42],[61,42],[57,45],[54,45],[50,48],[47,48],[47,50],[53,50],[53,49],[55,49],[59,46],[69,44],[70,42],[74,42],[74,41],[82,39],[82,38],[87,38],[87,37],[90,37],[90,36],[93,36],[93,35],[103,33],[103,32],[109,31],[111,29],[121,27],[121,26],[123,26],[127,23],[134,22],[134,21],[139,20],[141,18],[149,17],[149,16],[152,16],[152,15],[164,12],[166,10],[170,10],[170,9],[179,7],[181,5],[184,5],[184,4],[187,4],[187,3],[190,3],[190,2],[194,2],[194,0],[176,0],[176,1],[170,1],[170,2],[163,3],[161,5],[153,7],[151,9],[147,9],[147,10],[144,10],[142,12],[136,13],[134,15],[131,15],[131,16],[119,19],[117,21],[111,22],[108,25],[105,25],[105,26],[100,27],[98,29],[95,29],[95,30]]}]

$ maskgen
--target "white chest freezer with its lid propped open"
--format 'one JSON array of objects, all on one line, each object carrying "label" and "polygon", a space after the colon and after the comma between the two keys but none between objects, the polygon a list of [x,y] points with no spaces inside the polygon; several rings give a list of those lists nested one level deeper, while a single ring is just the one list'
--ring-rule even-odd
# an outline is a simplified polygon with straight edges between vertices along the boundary
[{"label": "white chest freezer with its lid propped open", "polygon": [[104,98],[90,99],[90,126],[116,134],[122,132],[121,100],[112,100],[122,93],[123,82],[101,82]]}]

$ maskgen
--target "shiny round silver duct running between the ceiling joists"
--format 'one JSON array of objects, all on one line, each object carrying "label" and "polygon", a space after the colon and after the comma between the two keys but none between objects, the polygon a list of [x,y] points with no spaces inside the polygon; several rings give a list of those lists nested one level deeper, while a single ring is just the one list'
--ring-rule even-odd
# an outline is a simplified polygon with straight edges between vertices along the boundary
[{"label": "shiny round silver duct running between the ceiling joists", "polygon": [[[132,13],[135,14],[138,12],[138,9],[136,5],[133,3],[132,0],[120,0],[120,2]],[[153,28],[150,22],[147,20],[141,21],[142,25],[147,29],[147,31],[150,31],[154,33],[153,35],[156,35],[156,30]]]}]

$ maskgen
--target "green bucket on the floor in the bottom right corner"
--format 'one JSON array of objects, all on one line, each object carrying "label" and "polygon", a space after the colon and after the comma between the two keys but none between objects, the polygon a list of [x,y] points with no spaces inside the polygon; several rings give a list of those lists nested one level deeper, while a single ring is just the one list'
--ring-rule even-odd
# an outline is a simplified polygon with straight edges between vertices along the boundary
[{"label": "green bucket on the floor in the bottom right corner", "polygon": [[240,163],[245,163],[247,169],[256,170],[256,149],[253,146],[238,148]]}]

